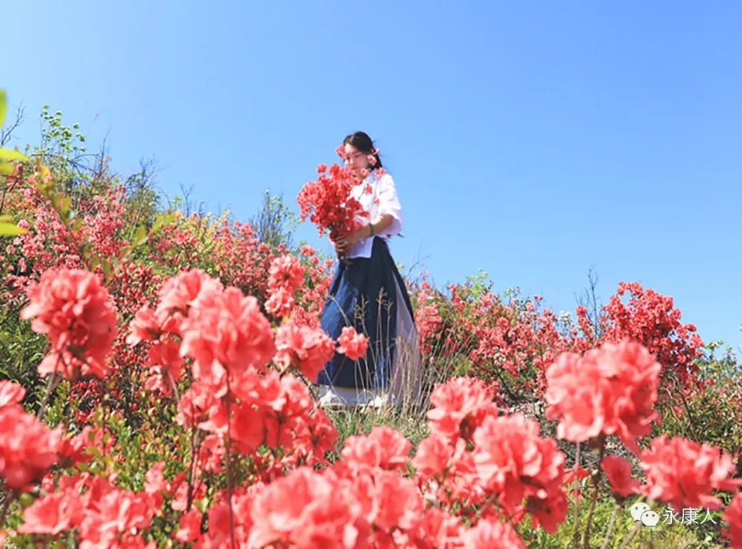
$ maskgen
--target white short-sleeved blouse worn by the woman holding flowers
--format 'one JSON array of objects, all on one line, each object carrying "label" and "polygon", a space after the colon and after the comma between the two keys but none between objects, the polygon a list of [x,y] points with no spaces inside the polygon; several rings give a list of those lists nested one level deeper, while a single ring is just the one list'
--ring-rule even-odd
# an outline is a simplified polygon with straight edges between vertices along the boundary
[{"label": "white short-sleeved blouse worn by the woman holding flowers", "polygon": [[[367,191],[367,185],[370,185],[371,192]],[[372,172],[362,183],[355,185],[351,191],[351,196],[358,200],[364,210],[368,211],[370,217],[364,218],[364,223],[374,221],[382,214],[390,214],[394,219],[392,224],[381,231],[374,233],[374,237],[381,237],[387,240],[402,230],[402,207],[399,205],[397,189],[394,186],[394,180],[390,174],[384,174],[376,177]],[[375,229],[374,229],[375,231]],[[332,242],[332,240],[331,240]],[[371,257],[373,238],[366,237],[355,243],[346,254],[346,257]]]}]

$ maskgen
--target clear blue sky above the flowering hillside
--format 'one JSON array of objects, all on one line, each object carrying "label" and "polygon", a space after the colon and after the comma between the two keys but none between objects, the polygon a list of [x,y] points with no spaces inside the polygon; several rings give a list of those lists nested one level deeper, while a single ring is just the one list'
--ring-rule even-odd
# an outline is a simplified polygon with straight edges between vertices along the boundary
[{"label": "clear blue sky above the flowering hillside", "polygon": [[[64,4],[64,5],[63,5]],[[310,5],[311,4],[311,5]],[[127,174],[248,219],[377,140],[396,260],[572,310],[594,266],[742,344],[742,4],[10,1],[0,87],[108,136]],[[298,231],[329,252],[309,223]],[[420,269],[416,269],[418,272]]]}]

